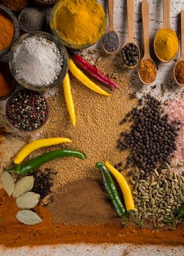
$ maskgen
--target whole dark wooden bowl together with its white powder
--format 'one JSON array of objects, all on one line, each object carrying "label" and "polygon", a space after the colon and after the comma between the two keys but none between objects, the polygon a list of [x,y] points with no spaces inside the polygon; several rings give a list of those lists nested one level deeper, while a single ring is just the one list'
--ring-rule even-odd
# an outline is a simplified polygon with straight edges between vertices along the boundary
[{"label": "whole dark wooden bowl together with its white powder", "polygon": [[69,56],[52,34],[34,31],[14,43],[9,68],[20,86],[45,91],[61,84],[69,69]]}]

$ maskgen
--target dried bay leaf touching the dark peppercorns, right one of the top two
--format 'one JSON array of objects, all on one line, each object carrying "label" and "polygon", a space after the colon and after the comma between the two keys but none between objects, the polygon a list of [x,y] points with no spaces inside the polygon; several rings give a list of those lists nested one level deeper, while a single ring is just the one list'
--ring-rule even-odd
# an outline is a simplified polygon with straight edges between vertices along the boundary
[{"label": "dried bay leaf touching the dark peppercorns, right one of the top two", "polygon": [[34,178],[33,176],[26,176],[20,179],[15,184],[15,189],[12,193],[12,197],[19,197],[26,192],[29,192],[34,186]]}]

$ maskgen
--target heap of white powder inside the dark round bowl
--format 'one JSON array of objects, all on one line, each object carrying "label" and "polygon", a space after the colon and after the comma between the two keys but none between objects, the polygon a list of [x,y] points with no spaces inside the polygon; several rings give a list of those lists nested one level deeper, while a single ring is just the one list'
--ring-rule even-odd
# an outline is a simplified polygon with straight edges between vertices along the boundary
[{"label": "heap of white powder inside the dark round bowl", "polygon": [[34,86],[47,86],[61,74],[63,56],[55,42],[44,37],[29,37],[15,50],[18,78]]}]

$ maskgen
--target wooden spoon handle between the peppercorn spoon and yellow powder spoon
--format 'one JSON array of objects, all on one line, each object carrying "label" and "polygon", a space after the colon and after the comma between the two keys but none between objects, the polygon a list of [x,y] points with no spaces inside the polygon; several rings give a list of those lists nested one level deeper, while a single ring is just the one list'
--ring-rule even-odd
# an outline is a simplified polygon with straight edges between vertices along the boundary
[{"label": "wooden spoon handle between the peppercorn spoon and yellow powder spoon", "polygon": [[149,42],[149,23],[150,14],[147,0],[142,0],[142,23],[145,45],[145,59],[150,59],[150,42]]}]

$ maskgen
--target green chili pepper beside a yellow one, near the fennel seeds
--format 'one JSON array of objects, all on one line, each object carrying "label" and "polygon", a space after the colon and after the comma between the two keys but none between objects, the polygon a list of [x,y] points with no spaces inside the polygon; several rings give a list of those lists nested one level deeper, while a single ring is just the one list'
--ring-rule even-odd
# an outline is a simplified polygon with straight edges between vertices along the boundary
[{"label": "green chili pepper beside a yellow one, near the fennel seeds", "polygon": [[107,167],[101,162],[97,162],[96,167],[101,170],[101,173],[103,176],[103,181],[104,181],[104,186],[107,190],[108,195],[110,196],[110,199],[115,208],[115,211],[117,212],[119,217],[123,217],[123,219],[125,220],[126,225],[127,225],[128,219],[126,217],[126,208],[125,208],[125,206],[123,206],[123,203],[120,200],[118,191],[115,187],[115,183],[112,180],[112,176],[110,175],[109,170],[107,170]]}]

